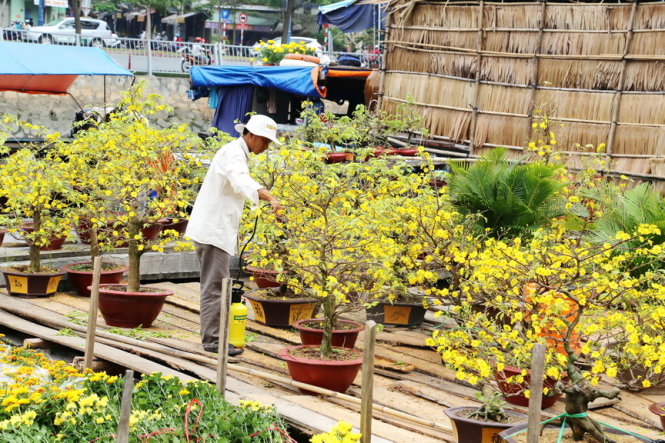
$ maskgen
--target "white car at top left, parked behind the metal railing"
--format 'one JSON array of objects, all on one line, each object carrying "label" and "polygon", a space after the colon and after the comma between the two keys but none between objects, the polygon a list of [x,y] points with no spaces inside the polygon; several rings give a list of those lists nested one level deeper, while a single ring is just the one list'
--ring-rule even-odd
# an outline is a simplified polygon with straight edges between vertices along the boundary
[{"label": "white car at top left, parked behind the metal railing", "polygon": [[[26,41],[44,43],[44,44],[65,44],[73,45],[76,43],[76,28],[74,18],[61,18],[44,26],[33,26],[24,37]],[[111,46],[114,42],[111,30],[103,20],[93,18],[81,19],[81,44],[96,46],[102,48]]]}]

